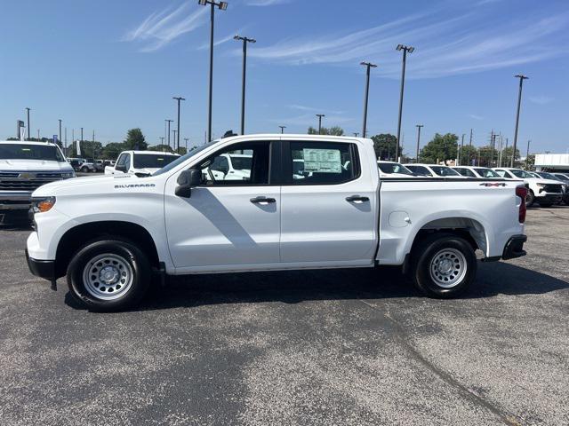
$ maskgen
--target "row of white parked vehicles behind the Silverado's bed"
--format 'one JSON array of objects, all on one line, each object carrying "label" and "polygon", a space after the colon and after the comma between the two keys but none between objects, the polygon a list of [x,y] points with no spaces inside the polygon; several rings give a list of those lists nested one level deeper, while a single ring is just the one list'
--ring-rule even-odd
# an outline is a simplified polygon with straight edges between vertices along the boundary
[{"label": "row of white parked vehicles behind the Silverado's bed", "polygon": [[465,178],[503,178],[523,180],[527,187],[526,207],[538,203],[541,207],[554,204],[569,205],[569,173],[526,171],[509,167],[487,168],[475,166],[445,166],[441,164],[400,164],[398,162],[378,161],[381,177],[445,177]]}]

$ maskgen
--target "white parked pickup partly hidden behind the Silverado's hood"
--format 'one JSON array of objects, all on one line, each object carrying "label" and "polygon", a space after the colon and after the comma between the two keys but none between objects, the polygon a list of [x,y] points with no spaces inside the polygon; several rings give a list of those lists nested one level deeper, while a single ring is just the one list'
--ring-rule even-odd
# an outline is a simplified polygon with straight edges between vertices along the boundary
[{"label": "white parked pickup partly hidden behind the Silverado's hood", "polygon": [[151,175],[177,158],[179,154],[159,151],[123,151],[114,166],[105,167],[106,175],[136,174]]}]

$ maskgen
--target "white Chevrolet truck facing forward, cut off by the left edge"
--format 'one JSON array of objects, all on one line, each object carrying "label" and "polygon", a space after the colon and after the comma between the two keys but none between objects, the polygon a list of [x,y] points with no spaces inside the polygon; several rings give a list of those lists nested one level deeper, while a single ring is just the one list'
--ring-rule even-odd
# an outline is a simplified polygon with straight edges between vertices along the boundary
[{"label": "white Chevrolet truck facing forward, cut off by the left edge", "polygon": [[0,214],[27,212],[39,186],[69,177],[75,172],[59,146],[0,141]]}]

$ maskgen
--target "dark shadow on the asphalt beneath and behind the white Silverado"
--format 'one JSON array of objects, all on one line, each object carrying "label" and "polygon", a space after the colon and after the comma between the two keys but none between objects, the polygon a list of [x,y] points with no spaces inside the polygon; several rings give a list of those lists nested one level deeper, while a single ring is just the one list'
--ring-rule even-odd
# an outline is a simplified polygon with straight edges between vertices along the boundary
[{"label": "dark shadow on the asphalt beneath and behind the white Silverado", "polygon": [[[569,283],[507,263],[480,264],[477,281],[461,299],[498,295],[541,295],[569,288]],[[151,289],[139,311],[211,304],[423,298],[395,267],[294,272],[247,272],[172,279]],[[82,309],[72,302],[66,303]]]}]

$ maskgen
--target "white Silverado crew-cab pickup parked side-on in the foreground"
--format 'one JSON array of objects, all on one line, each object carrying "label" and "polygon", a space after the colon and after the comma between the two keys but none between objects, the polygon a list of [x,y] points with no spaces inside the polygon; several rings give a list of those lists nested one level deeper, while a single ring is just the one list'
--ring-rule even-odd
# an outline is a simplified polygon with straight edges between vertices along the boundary
[{"label": "white Silverado crew-cab pickup parked side-on in the foreground", "polygon": [[[210,166],[243,152],[249,177],[218,180]],[[520,184],[380,178],[365,138],[222,138],[152,176],[42,186],[28,266],[52,286],[67,275],[71,295],[97,311],[139,303],[153,276],[384,264],[402,265],[428,296],[452,297],[475,279],[475,249],[486,261],[525,255]]]}]

